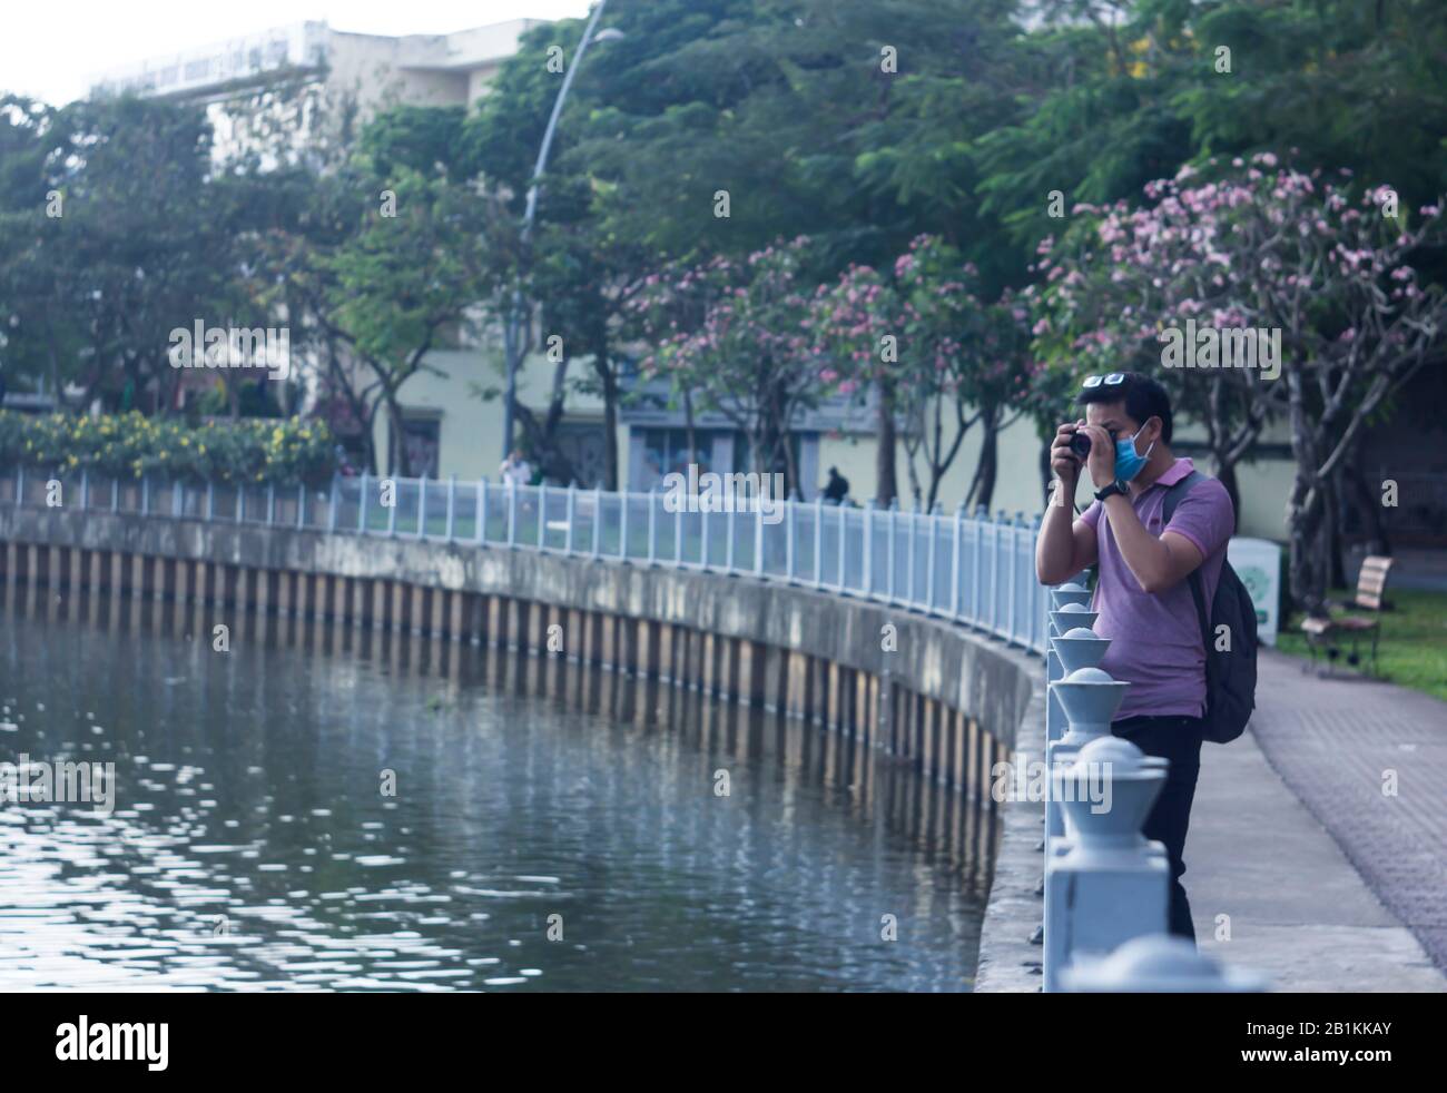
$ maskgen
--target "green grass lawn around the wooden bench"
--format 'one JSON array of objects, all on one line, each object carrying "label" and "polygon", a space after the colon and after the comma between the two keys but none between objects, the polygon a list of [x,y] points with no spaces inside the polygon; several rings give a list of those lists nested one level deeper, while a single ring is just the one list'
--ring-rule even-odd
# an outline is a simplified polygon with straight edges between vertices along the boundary
[{"label": "green grass lawn around the wooden bench", "polygon": [[[1331,599],[1350,599],[1351,592],[1336,589]],[[1378,644],[1378,669],[1393,683],[1424,691],[1447,701],[1447,592],[1422,592],[1417,589],[1393,589],[1386,586],[1386,601],[1393,611],[1383,611],[1382,634]],[[1333,615],[1370,615],[1369,611],[1333,609]],[[1307,637],[1298,630],[1301,615],[1291,617],[1276,640],[1276,649],[1301,657],[1310,657]],[[1360,636],[1362,662],[1367,663],[1372,638]],[[1343,650],[1334,667],[1350,670],[1346,656],[1351,650],[1351,638],[1343,636],[1338,641]],[[1325,663],[1325,654],[1318,651],[1318,663]]]}]

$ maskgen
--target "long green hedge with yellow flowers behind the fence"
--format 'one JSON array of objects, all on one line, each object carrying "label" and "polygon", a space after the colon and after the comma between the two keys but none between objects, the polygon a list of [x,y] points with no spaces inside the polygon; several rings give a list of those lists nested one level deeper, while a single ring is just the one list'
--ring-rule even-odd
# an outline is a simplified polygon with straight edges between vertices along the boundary
[{"label": "long green hedge with yellow flowers behind the fence", "polygon": [[0,410],[0,469],[48,475],[81,470],[107,478],[156,475],[197,482],[324,482],[336,470],[331,431],[321,421],[17,414]]}]

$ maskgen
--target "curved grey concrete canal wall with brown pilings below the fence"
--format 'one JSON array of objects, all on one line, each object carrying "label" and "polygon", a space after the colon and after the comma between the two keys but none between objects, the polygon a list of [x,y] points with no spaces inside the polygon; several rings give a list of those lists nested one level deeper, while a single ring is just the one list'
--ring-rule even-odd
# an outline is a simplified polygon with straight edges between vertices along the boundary
[{"label": "curved grey concrete canal wall with brown pilings below the fence", "polygon": [[997,805],[990,795],[994,763],[1043,753],[1045,673],[1035,654],[831,592],[531,549],[12,507],[0,508],[0,540],[7,586],[275,611],[570,656],[862,738],[997,818],[975,989],[1040,989],[1040,948],[1029,938],[1040,921],[1043,808]]}]

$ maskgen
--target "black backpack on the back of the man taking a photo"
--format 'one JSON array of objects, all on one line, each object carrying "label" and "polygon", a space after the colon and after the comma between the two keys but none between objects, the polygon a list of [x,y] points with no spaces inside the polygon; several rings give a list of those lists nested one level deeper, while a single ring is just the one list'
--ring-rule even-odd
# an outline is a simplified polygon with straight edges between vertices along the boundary
[{"label": "black backpack on the back of the man taking a photo", "polygon": [[[1192,470],[1166,488],[1160,511],[1162,528],[1171,523],[1176,502],[1191,491],[1191,486],[1204,481],[1205,475]],[[1201,620],[1201,641],[1205,650],[1202,735],[1215,744],[1229,744],[1246,731],[1246,722],[1252,719],[1252,709],[1256,708],[1256,604],[1224,557],[1210,614],[1205,611],[1201,567],[1197,566],[1188,579],[1191,598],[1195,599],[1195,614]],[[1220,625],[1227,627],[1230,636],[1227,650],[1217,649],[1213,640],[1215,627]]]}]

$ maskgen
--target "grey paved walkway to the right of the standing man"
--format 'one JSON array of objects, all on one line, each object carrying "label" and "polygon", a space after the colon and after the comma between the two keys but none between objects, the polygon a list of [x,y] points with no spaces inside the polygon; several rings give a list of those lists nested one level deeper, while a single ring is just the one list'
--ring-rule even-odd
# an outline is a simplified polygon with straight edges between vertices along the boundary
[{"label": "grey paved walkway to the right of the standing man", "polygon": [[1201,948],[1276,990],[1447,992],[1447,704],[1265,649],[1259,669],[1246,735],[1201,753],[1184,877]]}]

